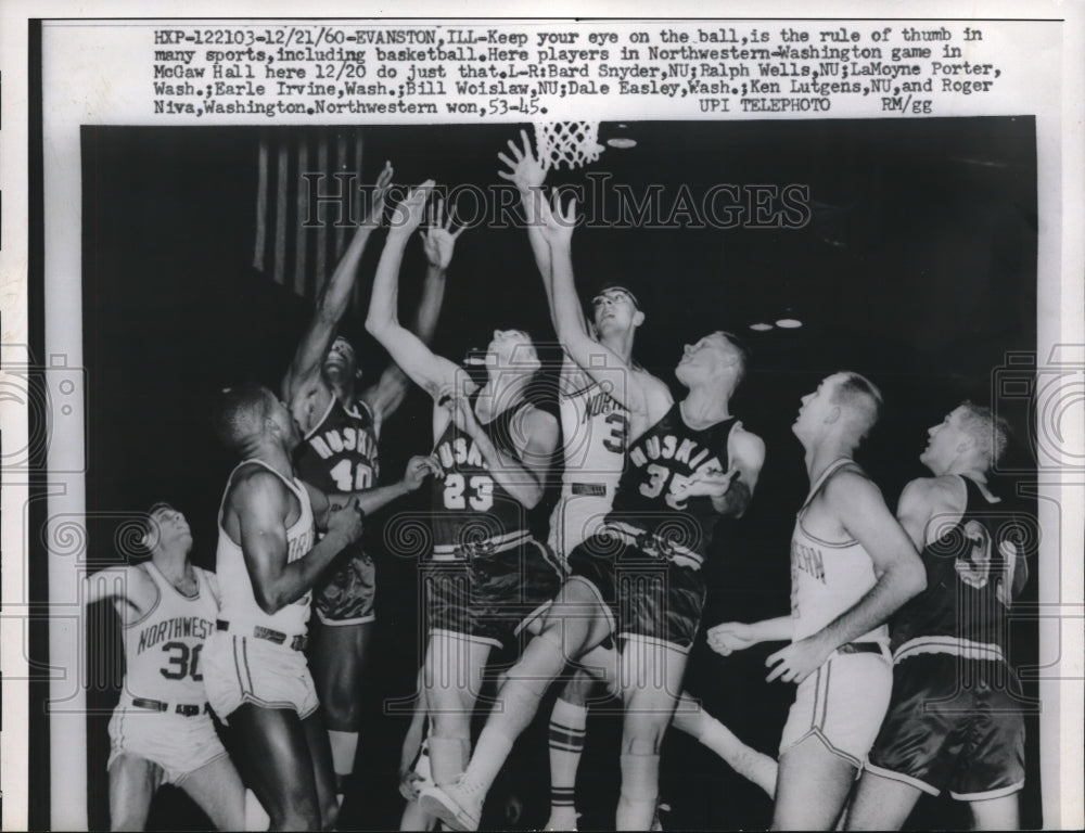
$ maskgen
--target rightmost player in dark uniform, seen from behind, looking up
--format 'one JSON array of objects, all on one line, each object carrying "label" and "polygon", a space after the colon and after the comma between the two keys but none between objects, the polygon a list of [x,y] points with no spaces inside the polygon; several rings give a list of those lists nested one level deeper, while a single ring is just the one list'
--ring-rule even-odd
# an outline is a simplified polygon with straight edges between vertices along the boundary
[{"label": "rightmost player in dark uniform, seen from behind, looking up", "polygon": [[1006,424],[965,402],[929,432],[899,518],[927,567],[927,590],[890,621],[893,695],[847,813],[852,830],[899,830],[922,793],[968,802],[976,830],[1017,830],[1024,718],[1006,661],[1007,612],[1027,567],[1021,524],[987,473]]}]

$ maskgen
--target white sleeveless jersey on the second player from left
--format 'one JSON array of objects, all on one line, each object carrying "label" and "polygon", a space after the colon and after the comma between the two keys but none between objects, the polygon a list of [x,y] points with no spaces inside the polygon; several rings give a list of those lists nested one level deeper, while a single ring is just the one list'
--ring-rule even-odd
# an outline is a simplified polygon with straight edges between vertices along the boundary
[{"label": "white sleeveless jersey on the second player from left", "polygon": [[288,604],[275,614],[267,614],[260,610],[253,594],[253,582],[245,566],[245,555],[241,547],[230,540],[230,536],[222,528],[222,511],[226,507],[226,495],[230,490],[233,475],[243,465],[255,463],[263,465],[276,475],[289,488],[297,502],[302,507],[298,515],[290,528],[286,530],[286,561],[297,561],[304,558],[312,549],[316,529],[312,523],[312,508],[309,505],[309,494],[305,487],[295,478],[288,480],[279,472],[261,460],[246,460],[230,473],[226,491],[222,494],[222,503],[218,510],[218,561],[216,572],[218,574],[218,585],[222,593],[222,613],[220,618],[230,625],[230,632],[244,636],[245,631],[252,628],[263,627],[278,631],[288,637],[304,636],[308,629],[309,602],[311,591]]}]

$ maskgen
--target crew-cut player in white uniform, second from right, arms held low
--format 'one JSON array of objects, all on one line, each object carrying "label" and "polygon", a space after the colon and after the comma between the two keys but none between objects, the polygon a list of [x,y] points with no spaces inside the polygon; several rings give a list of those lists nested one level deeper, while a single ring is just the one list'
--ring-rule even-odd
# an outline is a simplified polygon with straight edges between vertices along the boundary
[{"label": "crew-cut player in white uniform, second from right, arms held low", "polygon": [[832,830],[892,687],[885,620],[923,589],[923,568],[878,487],[852,459],[881,394],[834,373],[803,397],[792,431],[810,490],[791,539],[791,616],[709,632],[720,653],[790,640],[768,680],[799,685],[780,741],[774,830]]}]

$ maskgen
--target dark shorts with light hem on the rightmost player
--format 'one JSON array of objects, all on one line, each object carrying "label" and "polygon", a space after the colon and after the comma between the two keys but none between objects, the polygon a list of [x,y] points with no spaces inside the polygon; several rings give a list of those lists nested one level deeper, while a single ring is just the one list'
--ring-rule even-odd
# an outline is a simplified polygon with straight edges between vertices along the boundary
[{"label": "dark shorts with light hem on the rightmost player", "polygon": [[959,800],[1024,784],[1021,687],[1000,661],[917,654],[893,668],[893,695],[868,769]]}]

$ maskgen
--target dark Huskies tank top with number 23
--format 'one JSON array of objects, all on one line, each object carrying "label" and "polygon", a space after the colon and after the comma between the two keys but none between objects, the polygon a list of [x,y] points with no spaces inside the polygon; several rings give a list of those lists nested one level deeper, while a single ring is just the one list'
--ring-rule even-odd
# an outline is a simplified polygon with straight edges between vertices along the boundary
[{"label": "dark Huskies tank top with number 23", "polygon": [[[478,392],[470,397],[472,408]],[[478,423],[489,440],[514,460],[520,458],[511,425],[527,407],[520,401],[490,422]],[[435,558],[462,555],[464,547],[493,549],[526,540],[527,510],[494,479],[482,451],[454,421],[449,420],[434,453],[444,471],[444,477],[430,478]]]}]

